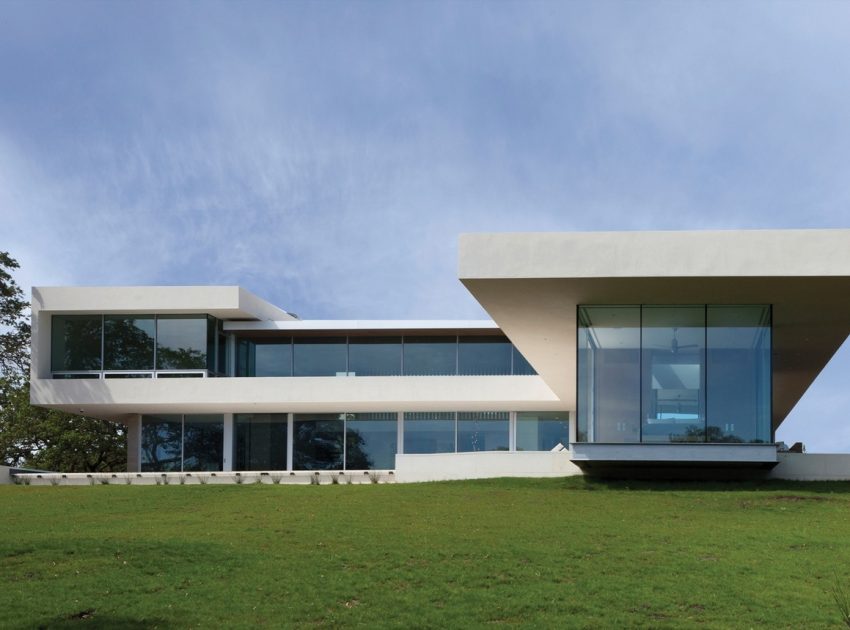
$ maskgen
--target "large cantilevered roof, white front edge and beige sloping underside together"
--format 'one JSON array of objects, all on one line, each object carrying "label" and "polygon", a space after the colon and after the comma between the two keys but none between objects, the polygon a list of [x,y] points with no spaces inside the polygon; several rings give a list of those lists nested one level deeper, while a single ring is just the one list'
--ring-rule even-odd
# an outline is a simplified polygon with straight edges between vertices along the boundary
[{"label": "large cantilevered roof, white front edge and beige sloping underside together", "polygon": [[850,230],[464,234],[459,276],[576,408],[579,305],[772,304],[773,427],[850,333]]}]

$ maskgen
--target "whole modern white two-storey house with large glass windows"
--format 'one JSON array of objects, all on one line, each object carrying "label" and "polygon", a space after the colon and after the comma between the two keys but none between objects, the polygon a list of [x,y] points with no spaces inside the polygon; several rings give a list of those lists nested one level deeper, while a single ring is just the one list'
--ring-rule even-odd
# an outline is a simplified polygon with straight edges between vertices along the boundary
[{"label": "whole modern white two-storey house with large glass windows", "polygon": [[850,333],[850,230],[465,234],[459,276],[492,320],[35,287],[32,402],[125,424],[139,473],[842,476],[774,435]]}]

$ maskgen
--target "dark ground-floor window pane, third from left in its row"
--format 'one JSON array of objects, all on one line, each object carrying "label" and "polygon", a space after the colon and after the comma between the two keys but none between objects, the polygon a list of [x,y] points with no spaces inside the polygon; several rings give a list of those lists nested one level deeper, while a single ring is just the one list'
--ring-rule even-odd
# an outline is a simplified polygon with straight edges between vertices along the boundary
[{"label": "dark ground-floor window pane, third from left in its row", "polygon": [[234,470],[286,470],[285,413],[238,413],[233,422]]}]

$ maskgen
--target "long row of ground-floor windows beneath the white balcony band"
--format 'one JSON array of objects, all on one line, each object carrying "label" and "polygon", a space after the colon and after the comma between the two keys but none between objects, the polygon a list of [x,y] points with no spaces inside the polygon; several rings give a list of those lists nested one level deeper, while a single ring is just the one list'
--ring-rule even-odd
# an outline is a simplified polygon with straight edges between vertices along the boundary
[{"label": "long row of ground-floor windows beneath the white balcony band", "polygon": [[142,472],[218,471],[225,464],[240,471],[390,470],[398,453],[553,450],[569,444],[569,414],[245,413],[232,422],[221,414],[146,415],[141,437]]}]

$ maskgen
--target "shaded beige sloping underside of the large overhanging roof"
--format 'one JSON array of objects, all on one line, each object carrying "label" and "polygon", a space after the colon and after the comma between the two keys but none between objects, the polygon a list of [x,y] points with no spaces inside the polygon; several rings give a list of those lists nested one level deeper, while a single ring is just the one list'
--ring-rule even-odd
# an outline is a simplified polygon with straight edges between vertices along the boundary
[{"label": "shaded beige sloping underside of the large overhanging roof", "polygon": [[464,279],[547,385],[576,408],[579,305],[772,304],[773,427],[850,332],[848,277]]}]

